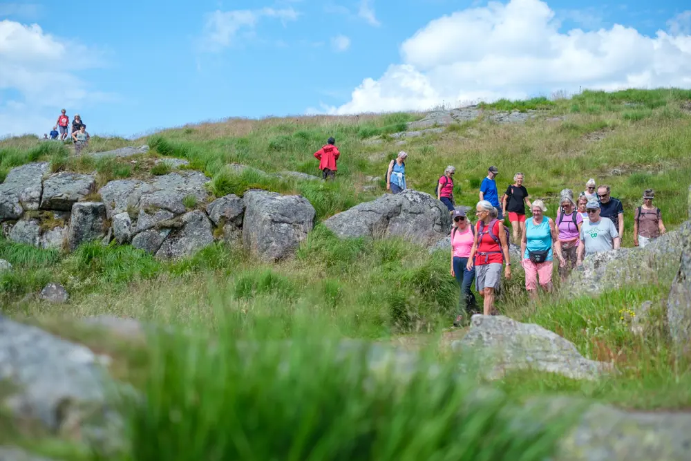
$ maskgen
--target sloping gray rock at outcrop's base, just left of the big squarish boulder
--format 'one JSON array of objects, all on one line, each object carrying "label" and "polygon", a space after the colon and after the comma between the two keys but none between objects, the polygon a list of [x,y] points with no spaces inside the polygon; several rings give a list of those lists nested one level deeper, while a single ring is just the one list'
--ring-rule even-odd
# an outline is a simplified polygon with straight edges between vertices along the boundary
[{"label": "sloping gray rock at outcrop's base, just left of the big squarish boulder", "polygon": [[182,215],[181,226],[173,229],[163,241],[156,257],[160,259],[177,259],[191,256],[203,247],[214,243],[211,223],[203,211],[195,210]]}]

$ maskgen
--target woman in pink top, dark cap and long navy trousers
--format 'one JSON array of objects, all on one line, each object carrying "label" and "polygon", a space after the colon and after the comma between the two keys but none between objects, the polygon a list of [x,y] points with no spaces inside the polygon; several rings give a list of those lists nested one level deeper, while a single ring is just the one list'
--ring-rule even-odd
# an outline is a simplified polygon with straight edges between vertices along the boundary
[{"label": "woman in pink top, dark cap and long navy trousers", "polygon": [[453,326],[462,326],[464,318],[470,319],[477,308],[477,301],[475,301],[475,295],[471,290],[475,279],[475,267],[468,269],[468,258],[471,256],[471,249],[475,241],[475,229],[463,209],[454,210],[451,218],[453,218],[451,275],[455,276],[458,288],[460,288],[460,299]]}]

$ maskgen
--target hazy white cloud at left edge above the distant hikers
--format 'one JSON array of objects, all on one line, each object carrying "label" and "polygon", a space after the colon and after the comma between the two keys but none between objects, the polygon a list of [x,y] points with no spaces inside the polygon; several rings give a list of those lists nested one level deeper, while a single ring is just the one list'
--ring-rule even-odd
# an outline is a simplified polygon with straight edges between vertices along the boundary
[{"label": "hazy white cloud at left edge above the distant hikers", "polygon": [[37,24],[0,21],[0,135],[45,133],[63,107],[113,100],[91,91],[77,75],[101,66],[100,56],[99,50],[46,34]]}]

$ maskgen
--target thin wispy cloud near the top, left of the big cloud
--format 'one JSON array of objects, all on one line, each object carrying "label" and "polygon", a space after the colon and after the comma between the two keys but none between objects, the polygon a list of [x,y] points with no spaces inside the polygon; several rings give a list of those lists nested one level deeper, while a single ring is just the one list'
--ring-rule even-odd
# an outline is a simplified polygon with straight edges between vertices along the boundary
[{"label": "thin wispy cloud near the top, left of the big cloud", "polygon": [[257,23],[263,18],[280,20],[283,25],[295,21],[299,16],[292,7],[260,8],[258,10],[216,10],[207,15],[202,32],[201,48],[207,51],[218,51],[234,43],[240,30],[249,34],[254,32]]}]

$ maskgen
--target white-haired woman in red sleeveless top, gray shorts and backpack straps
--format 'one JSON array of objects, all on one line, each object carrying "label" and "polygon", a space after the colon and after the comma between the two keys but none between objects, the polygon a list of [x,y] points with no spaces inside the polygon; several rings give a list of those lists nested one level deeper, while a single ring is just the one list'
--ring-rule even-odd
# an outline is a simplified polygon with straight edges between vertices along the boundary
[{"label": "white-haired woman in red sleeveless top, gray shorts and backpack straps", "polygon": [[511,279],[509,229],[497,218],[497,213],[498,210],[487,200],[480,200],[475,206],[475,238],[466,263],[468,270],[475,267],[475,290],[483,298],[485,315],[494,312],[494,295],[501,284],[502,263],[506,264],[504,276]]}]

